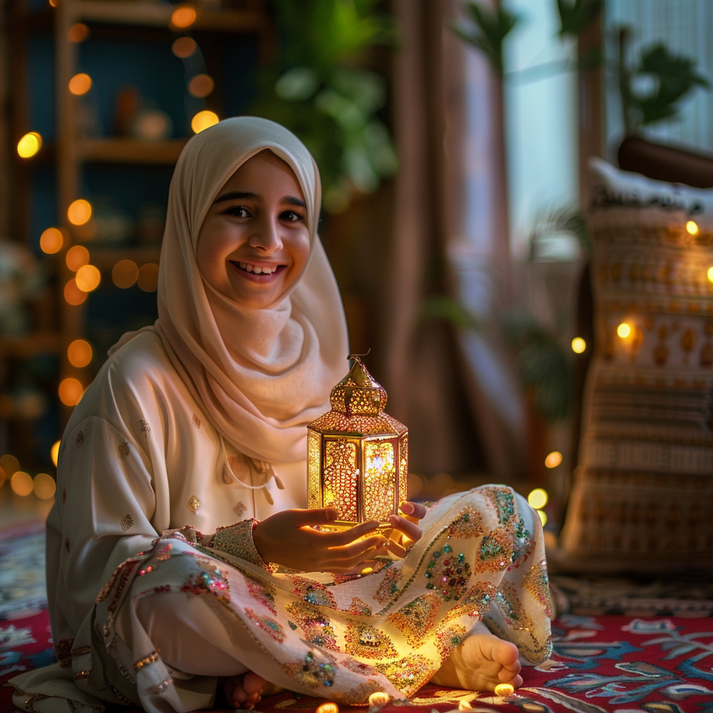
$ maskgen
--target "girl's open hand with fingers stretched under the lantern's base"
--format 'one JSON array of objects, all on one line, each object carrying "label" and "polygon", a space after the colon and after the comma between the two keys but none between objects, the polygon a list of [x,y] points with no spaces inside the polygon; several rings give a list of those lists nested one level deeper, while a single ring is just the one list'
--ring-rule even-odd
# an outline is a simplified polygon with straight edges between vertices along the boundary
[{"label": "girl's open hand with fingers stretched under the lantern's base", "polygon": [[328,525],[338,516],[334,508],[284,510],[257,523],[252,530],[252,541],[265,562],[304,572],[334,574],[359,572],[373,565],[371,560],[376,555],[385,555],[389,550],[383,535],[359,539],[376,529],[379,525],[376,520],[336,533],[312,528],[312,525]]}]

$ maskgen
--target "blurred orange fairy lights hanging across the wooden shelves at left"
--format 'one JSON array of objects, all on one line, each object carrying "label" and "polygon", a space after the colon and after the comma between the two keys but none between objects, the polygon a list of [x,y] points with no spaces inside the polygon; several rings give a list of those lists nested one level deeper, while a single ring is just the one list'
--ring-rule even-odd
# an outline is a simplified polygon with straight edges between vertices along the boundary
[{"label": "blurred orange fairy lights hanging across the wooden shelves at left", "polygon": [[[57,0],[49,0],[52,7],[57,6]],[[204,100],[215,88],[215,81],[205,71],[205,60],[198,43],[188,33],[198,20],[198,10],[190,4],[178,5],[168,21],[168,28],[180,34],[172,43],[173,55],[180,58],[185,68],[186,91],[192,101]],[[73,24],[67,33],[70,42],[81,43],[89,38],[89,27],[78,22]],[[91,91],[93,80],[86,72],[78,72],[68,81],[67,91],[73,96],[85,96]],[[195,107],[193,107],[195,108]],[[214,111],[202,108],[193,111],[190,103],[186,104],[186,111],[190,116],[190,128],[193,133],[216,124],[219,117]],[[20,158],[29,159],[36,156],[43,147],[43,138],[37,131],[29,131],[23,135],[16,146]],[[78,240],[89,242],[97,234],[96,222],[92,217],[93,208],[86,198],[78,198],[71,202],[67,208],[68,222],[73,226],[73,233]],[[43,230],[39,246],[46,255],[55,255],[69,245],[71,237],[69,231],[63,227],[47,227]],[[78,306],[86,301],[88,294],[101,284],[101,270],[91,263],[91,252],[86,245],[69,245],[64,255],[66,266],[74,276],[66,282],[63,288],[63,298],[68,304]],[[136,285],[143,292],[155,292],[158,287],[158,265],[155,262],[146,262],[138,265],[134,260],[121,259],[113,265],[111,270],[113,284],[120,289],[129,289]],[[67,348],[69,363],[81,369],[90,364],[93,358],[93,349],[86,339],[75,339]],[[58,386],[58,396],[65,406],[76,406],[81,400],[85,387],[73,376],[62,379]],[[51,460],[56,467],[59,451],[59,441],[51,448]],[[15,456],[6,453],[0,457],[0,487],[9,482],[12,491],[19,496],[29,496],[34,493],[37,497],[49,500],[53,498],[56,483],[48,473],[37,473],[31,476],[20,467]]]}]

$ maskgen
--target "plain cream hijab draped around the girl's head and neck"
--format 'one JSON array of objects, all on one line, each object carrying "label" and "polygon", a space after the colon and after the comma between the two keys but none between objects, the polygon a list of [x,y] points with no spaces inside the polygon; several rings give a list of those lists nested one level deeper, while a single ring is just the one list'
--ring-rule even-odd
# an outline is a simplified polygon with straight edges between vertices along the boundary
[{"label": "plain cream hijab draped around the girl's head and neck", "polygon": [[[248,309],[203,279],[198,235],[228,178],[266,148],[302,188],[311,249],[297,283],[267,309]],[[342,299],[317,236],[320,202],[319,170],[307,148],[281,125],[255,117],[226,119],[192,138],[168,195],[155,331],[220,436],[266,475],[269,463],[307,457],[305,426],[329,411],[332,386],[347,372]]]}]

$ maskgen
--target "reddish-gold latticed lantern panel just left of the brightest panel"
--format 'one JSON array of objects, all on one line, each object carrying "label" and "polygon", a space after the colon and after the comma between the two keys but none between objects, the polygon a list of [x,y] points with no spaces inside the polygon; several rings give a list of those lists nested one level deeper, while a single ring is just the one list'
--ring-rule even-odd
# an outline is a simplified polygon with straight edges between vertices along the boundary
[{"label": "reddish-gold latticed lantern panel just left of the brightest panel", "polygon": [[324,439],[325,508],[337,508],[340,520],[359,520],[359,468],[356,445],[344,438]]}]

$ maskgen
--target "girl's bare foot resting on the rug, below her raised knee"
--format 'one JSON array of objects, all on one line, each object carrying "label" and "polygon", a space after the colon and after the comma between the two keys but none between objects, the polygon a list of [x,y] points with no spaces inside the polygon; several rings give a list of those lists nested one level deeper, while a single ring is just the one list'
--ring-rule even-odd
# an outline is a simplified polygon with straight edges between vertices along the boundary
[{"label": "girl's bare foot resting on the rug, below her raised knee", "polygon": [[523,684],[518,647],[498,639],[482,622],[456,647],[431,683],[468,691],[494,691],[498,683]]}]

